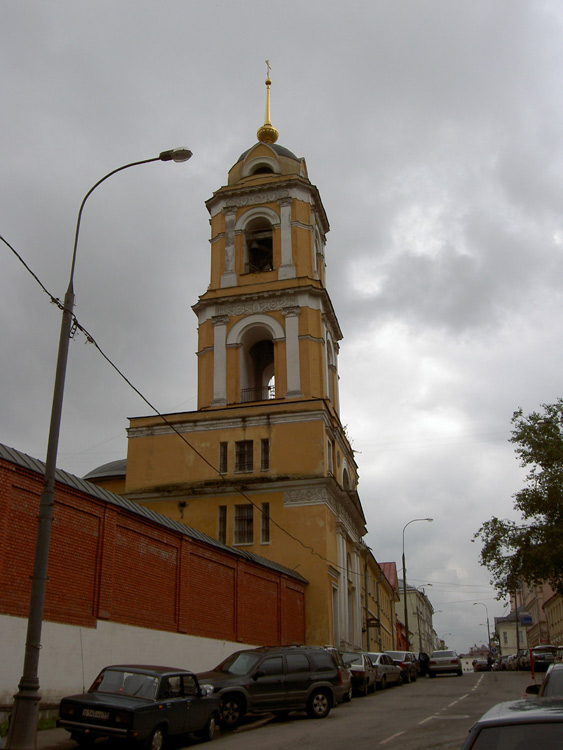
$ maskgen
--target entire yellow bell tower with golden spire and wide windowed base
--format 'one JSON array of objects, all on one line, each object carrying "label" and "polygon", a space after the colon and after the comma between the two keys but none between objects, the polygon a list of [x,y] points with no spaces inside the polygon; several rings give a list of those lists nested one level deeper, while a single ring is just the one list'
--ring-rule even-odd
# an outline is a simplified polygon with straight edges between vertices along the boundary
[{"label": "entire yellow bell tower with golden spire and wide windowed base", "polygon": [[123,491],[301,573],[306,641],[349,651],[363,643],[366,528],[340,421],[329,224],[305,160],[277,144],[266,84],[258,142],[206,204],[197,411],[131,419]]}]

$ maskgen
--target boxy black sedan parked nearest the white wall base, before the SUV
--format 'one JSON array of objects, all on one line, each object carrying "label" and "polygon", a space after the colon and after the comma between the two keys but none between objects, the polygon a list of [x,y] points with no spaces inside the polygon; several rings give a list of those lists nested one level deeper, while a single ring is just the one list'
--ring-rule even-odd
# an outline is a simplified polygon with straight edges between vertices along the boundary
[{"label": "boxy black sedan parked nearest the white wall base, before the SUV", "polygon": [[219,699],[192,672],[118,664],[103,669],[87,693],[63,698],[57,723],[81,746],[111,737],[161,750],[171,735],[212,739],[220,717]]}]

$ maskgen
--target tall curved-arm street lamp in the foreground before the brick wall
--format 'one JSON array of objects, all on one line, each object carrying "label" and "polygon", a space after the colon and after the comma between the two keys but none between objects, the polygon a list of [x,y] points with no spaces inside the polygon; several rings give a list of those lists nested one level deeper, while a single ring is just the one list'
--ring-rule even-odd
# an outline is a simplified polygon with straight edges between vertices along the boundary
[{"label": "tall curved-arm street lamp in the foreground before the brick wall", "polygon": [[53,390],[53,404],[51,407],[51,422],[47,442],[47,458],[45,460],[45,474],[43,489],[39,501],[39,515],[37,517],[37,537],[35,540],[35,560],[31,580],[31,596],[27,620],[27,637],[25,642],[25,657],[23,676],[18,685],[18,692],[14,696],[14,706],[10,718],[10,726],[5,747],[10,750],[34,750],[37,746],[37,720],[39,717],[39,651],[41,649],[41,629],[43,625],[43,609],[45,604],[45,585],[47,581],[47,564],[49,560],[49,543],[51,539],[51,525],[53,521],[53,505],[55,502],[55,472],[57,468],[57,450],[63,407],[64,383],[68,361],[68,348],[72,332],[74,310],[74,268],[76,264],[76,249],[80,220],[84,204],[101,185],[102,182],[129,167],[148,164],[152,161],[187,161],[192,152],[187,148],[174,148],[163,151],[152,159],[131,162],[109,172],[105,177],[90,188],[84,196],[78,211],[74,248],[70,267],[70,280],[62,306],[61,333],[55,372],[55,386]]}]

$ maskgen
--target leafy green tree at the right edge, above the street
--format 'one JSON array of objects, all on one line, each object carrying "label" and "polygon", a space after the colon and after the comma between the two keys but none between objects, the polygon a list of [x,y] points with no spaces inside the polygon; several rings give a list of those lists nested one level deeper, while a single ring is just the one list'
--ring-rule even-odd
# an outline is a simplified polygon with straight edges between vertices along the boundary
[{"label": "leafy green tree at the right edge, above the street", "polygon": [[481,564],[492,574],[499,598],[518,581],[549,582],[563,594],[563,399],[542,404],[542,413],[512,416],[512,437],[526,486],[514,495],[516,523],[493,516],[474,539],[483,542]]}]

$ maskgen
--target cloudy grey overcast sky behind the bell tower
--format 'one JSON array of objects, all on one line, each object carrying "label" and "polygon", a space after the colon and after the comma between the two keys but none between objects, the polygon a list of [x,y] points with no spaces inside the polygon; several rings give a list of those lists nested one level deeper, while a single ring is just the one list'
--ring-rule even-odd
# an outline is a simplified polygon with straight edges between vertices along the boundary
[{"label": "cloudy grey overcast sky behind the bell tower", "polygon": [[[513,411],[563,395],[563,5],[522,0],[3,0],[0,234],[161,411],[196,408],[204,201],[264,119],[307,161],[331,231],[341,418],[367,543],[423,586],[438,635],[506,613],[471,538],[513,517]],[[44,459],[60,313],[0,248],[0,441]],[[71,344],[61,468],[125,457],[150,413]],[[430,584],[432,586],[430,587]],[[451,634],[451,635],[450,635]]]}]

